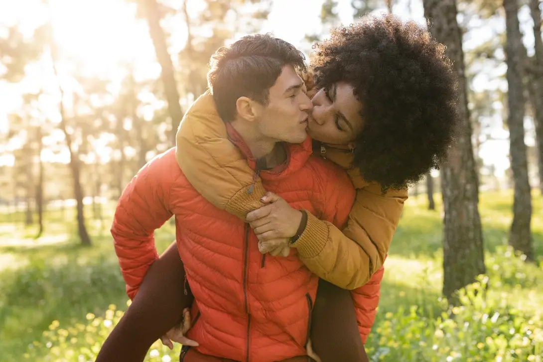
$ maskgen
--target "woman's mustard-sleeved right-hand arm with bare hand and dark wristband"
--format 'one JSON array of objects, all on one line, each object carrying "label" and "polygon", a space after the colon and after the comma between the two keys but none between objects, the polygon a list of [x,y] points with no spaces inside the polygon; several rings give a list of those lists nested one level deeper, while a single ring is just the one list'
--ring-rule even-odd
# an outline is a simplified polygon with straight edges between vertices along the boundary
[{"label": "woman's mustard-sleeved right-hand arm with bare hand and dark wristband", "polygon": [[[279,196],[267,193],[264,200],[272,203],[249,213],[248,220],[261,252],[279,246],[295,247],[308,269],[340,288],[352,290],[367,283],[383,266],[406,198],[405,190],[382,194],[378,185],[357,189],[352,208],[342,198],[334,197],[327,203],[336,207],[336,221],[319,220],[304,211],[305,228],[292,244],[288,239],[298,230],[300,218],[295,213],[299,211]],[[342,231],[336,225],[342,225],[346,212],[348,223]]]}]

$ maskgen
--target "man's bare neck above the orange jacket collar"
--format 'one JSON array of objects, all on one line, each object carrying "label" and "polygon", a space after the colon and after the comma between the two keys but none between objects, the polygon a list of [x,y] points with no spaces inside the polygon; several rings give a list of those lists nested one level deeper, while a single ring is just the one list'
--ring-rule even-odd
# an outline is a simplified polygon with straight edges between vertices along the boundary
[{"label": "man's bare neck above the orange jacket collar", "polygon": [[286,161],[287,154],[282,142],[263,137],[260,132],[243,122],[233,121],[231,125],[247,144],[252,157],[266,160],[267,168],[274,168]]}]

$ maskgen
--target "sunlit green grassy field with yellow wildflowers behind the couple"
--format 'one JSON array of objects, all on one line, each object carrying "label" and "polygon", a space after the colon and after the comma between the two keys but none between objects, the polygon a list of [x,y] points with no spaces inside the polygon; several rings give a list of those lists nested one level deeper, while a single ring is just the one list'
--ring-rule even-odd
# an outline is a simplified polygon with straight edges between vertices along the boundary
[{"label": "sunlit green grassy field with yellow wildflowers behind the couple", "polygon": [[[427,211],[424,196],[410,198],[385,264],[371,360],[543,361],[542,204],[534,196],[538,265],[527,265],[506,247],[512,194],[481,195],[490,287],[475,293],[482,278],[466,289],[463,306],[449,309],[440,298],[441,205]],[[112,212],[105,208],[103,223],[89,220],[92,247],[78,245],[71,209],[49,211],[39,239],[35,227],[17,221],[22,214],[0,213],[1,362],[93,360],[127,306]],[[169,223],[157,231],[159,252],[173,238]],[[176,360],[178,351],[157,342],[148,360]]]}]

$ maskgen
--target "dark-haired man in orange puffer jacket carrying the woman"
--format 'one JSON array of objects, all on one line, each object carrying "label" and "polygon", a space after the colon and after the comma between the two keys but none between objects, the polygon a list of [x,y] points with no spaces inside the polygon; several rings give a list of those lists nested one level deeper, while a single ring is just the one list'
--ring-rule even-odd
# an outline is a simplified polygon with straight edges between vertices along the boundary
[{"label": "dark-haired man in orange puffer jacket carrying the woman", "polygon": [[[285,41],[255,35],[219,49],[214,60],[213,99],[199,99],[189,112],[214,109],[214,100],[232,143],[253,168],[260,160],[264,187],[341,227],[354,191],[337,167],[311,156],[305,129],[312,105],[296,73],[303,55]],[[153,231],[172,215],[196,302],[188,338],[198,341],[198,352],[263,362],[304,355],[317,276],[295,253],[263,257],[247,224],[191,186],[174,149],[140,170],[119,200],[111,232],[129,296],[157,258]]]}]

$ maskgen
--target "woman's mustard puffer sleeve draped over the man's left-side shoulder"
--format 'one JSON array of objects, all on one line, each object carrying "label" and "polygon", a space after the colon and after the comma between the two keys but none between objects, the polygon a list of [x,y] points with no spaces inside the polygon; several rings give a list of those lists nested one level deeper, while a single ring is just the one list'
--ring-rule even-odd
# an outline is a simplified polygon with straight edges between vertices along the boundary
[{"label": "woman's mustard puffer sleeve draped over the man's left-side shoulder", "polygon": [[263,206],[262,181],[229,141],[210,92],[202,94],[187,111],[175,142],[179,167],[211,204],[243,221],[249,211]]}]

